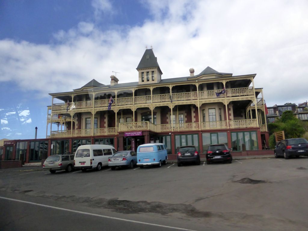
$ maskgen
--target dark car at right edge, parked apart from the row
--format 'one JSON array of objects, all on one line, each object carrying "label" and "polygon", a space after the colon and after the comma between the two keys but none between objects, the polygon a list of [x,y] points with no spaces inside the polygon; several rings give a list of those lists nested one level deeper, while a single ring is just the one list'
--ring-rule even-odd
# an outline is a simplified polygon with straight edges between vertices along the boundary
[{"label": "dark car at right edge, parked apart from the row", "polygon": [[275,157],[308,156],[308,141],[304,138],[282,140],[274,150]]}]

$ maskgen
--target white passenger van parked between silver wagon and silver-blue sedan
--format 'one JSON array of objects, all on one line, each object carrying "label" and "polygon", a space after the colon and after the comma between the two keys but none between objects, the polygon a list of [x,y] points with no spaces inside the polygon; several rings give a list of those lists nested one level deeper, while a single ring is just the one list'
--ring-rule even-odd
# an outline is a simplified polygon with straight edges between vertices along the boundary
[{"label": "white passenger van parked between silver wagon and silver-blue sedan", "polygon": [[115,148],[111,145],[81,145],[75,152],[75,168],[80,168],[83,172],[90,168],[96,168],[99,171],[102,166],[108,166],[108,158],[115,152]]}]

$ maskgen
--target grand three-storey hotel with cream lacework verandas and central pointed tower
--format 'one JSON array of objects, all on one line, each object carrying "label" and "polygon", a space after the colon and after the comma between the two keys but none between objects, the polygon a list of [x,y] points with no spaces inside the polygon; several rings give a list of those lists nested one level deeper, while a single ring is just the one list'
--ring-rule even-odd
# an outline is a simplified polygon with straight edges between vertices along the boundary
[{"label": "grand three-storey hotel with cream lacework verandas and central pointed tower", "polygon": [[136,69],[137,82],[118,83],[112,75],[109,85],[93,79],[73,91],[51,93],[46,139],[5,141],[2,160],[40,161],[83,144],[111,144],[120,151],[161,142],[170,159],[184,145],[205,153],[210,144],[225,143],[233,155],[268,146],[256,74],[233,76],[206,67],[197,75],[190,68],[186,77],[162,79],[152,49]]}]

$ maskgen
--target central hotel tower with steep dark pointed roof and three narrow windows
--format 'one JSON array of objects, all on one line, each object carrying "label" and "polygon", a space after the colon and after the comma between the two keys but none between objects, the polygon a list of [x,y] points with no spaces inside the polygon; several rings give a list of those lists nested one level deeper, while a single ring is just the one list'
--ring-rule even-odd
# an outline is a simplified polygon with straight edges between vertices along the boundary
[{"label": "central hotel tower with steep dark pointed roof and three narrow windows", "polygon": [[163,74],[152,49],[145,50],[136,69],[139,84],[159,83]]}]

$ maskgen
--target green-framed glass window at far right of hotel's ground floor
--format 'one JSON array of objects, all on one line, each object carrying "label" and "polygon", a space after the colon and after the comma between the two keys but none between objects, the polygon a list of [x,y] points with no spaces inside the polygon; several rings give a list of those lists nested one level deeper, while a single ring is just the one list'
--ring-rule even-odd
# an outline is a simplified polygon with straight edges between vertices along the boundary
[{"label": "green-framed glass window at far right of hotel's ground floor", "polygon": [[231,132],[233,151],[258,150],[257,132]]}]

